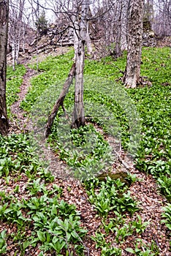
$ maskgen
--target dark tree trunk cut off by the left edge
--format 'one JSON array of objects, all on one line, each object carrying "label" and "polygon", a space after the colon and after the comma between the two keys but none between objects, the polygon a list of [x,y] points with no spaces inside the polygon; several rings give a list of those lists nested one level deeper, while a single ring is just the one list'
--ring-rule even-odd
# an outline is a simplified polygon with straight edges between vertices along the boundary
[{"label": "dark tree trunk cut off by the left edge", "polygon": [[7,31],[9,1],[0,0],[0,133],[7,135],[8,119],[6,105],[6,72],[7,72]]}]

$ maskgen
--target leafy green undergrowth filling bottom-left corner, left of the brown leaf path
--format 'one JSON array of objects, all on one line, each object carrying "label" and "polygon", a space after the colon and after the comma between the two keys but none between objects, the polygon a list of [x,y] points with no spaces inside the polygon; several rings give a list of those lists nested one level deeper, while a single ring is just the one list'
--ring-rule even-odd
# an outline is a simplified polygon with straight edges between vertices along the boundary
[{"label": "leafy green undergrowth filling bottom-left corner, left of the brown leaf path", "polygon": [[[0,137],[0,146],[1,184],[16,184],[9,192],[0,191],[0,221],[14,227],[11,233],[1,233],[1,255],[9,254],[7,240],[20,255],[38,244],[39,255],[82,255],[86,230],[80,227],[76,207],[61,199],[62,189],[52,184],[54,177],[39,161],[28,136]],[[20,182],[25,183],[24,197]]]}]

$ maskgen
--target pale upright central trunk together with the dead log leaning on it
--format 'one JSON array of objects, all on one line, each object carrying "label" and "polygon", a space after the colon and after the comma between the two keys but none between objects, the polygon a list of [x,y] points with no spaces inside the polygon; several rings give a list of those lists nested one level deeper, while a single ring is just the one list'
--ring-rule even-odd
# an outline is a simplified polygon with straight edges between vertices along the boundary
[{"label": "pale upright central trunk together with the dead log leaning on it", "polygon": [[[77,7],[77,3],[73,4],[73,9]],[[79,13],[80,10],[80,13]],[[75,106],[72,116],[72,128],[78,128],[85,124],[84,105],[83,105],[83,69],[85,59],[85,44],[87,39],[87,10],[88,4],[83,1],[81,8],[77,7],[77,15],[73,15],[72,23],[74,25],[74,37],[75,37],[75,64],[72,65],[72,69],[69,72],[69,76],[64,83],[64,87],[60,96],[53,107],[53,111],[48,117],[48,121],[45,127],[45,137],[50,134],[53,121],[58,113],[58,108],[63,107],[64,98],[69,90],[69,86],[75,76]]]}]

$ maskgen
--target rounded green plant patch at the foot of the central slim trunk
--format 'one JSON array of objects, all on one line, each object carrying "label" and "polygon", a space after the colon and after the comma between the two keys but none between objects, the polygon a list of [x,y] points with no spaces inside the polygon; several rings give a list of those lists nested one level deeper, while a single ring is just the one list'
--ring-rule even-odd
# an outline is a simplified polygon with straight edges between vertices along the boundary
[{"label": "rounded green plant patch at the foot of the central slim trunk", "polygon": [[63,125],[60,134],[55,122],[48,141],[60,159],[71,167],[73,176],[82,180],[91,178],[113,162],[109,144],[92,124],[67,132],[64,129]]}]

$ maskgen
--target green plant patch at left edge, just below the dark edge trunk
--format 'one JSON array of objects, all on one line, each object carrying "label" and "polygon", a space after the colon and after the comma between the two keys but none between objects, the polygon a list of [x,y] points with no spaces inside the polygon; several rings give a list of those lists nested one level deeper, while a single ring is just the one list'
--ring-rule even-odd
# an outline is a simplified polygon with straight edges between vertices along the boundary
[{"label": "green plant patch at left edge, just below the dark edge trunk", "polygon": [[39,161],[35,151],[38,152],[38,148],[31,145],[28,135],[0,135],[0,177],[7,178],[11,173],[25,173],[28,178],[39,175],[46,182],[53,181],[54,177],[47,170],[47,165]]}]

